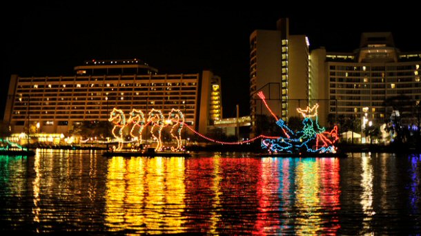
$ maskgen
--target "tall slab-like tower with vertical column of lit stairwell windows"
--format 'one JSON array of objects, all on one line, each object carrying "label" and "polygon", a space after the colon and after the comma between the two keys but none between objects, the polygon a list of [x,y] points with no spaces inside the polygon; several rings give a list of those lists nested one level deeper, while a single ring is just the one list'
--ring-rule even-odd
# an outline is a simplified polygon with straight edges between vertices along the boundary
[{"label": "tall slab-like tower with vertical column of lit stairwell windows", "polygon": [[296,108],[309,101],[309,40],[291,35],[288,19],[277,21],[277,30],[255,30],[250,36],[250,104],[252,136],[257,116],[270,113],[257,92],[280,118],[298,116]]}]

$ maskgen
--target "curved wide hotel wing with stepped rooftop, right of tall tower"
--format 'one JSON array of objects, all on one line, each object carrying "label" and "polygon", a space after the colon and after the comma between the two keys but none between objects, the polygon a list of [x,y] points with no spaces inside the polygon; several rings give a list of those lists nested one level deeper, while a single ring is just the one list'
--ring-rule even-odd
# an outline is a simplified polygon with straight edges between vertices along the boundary
[{"label": "curved wide hotel wing with stepped rooftop, right of tall tower", "polygon": [[420,65],[421,52],[400,52],[391,32],[363,33],[354,52],[326,52],[323,47],[311,51],[309,97],[329,100],[329,106],[320,109],[322,124],[327,114],[382,124],[398,112],[384,101],[404,95],[410,105],[400,108],[400,117],[403,123],[415,123]]}]

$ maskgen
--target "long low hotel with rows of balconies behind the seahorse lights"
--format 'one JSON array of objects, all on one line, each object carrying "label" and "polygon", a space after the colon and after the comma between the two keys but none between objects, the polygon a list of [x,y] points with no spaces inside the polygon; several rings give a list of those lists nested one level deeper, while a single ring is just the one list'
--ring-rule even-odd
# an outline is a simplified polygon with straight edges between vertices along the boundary
[{"label": "long low hotel with rows of balconies behind the seahorse lights", "polygon": [[[188,125],[206,133],[222,118],[220,78],[202,74],[157,74],[137,59],[86,61],[73,76],[12,75],[4,120],[13,133],[39,122],[40,133],[68,133],[83,120],[108,120],[113,107],[140,109],[147,116],[159,109],[168,116],[180,109]],[[29,103],[29,104],[28,104]],[[199,107],[207,109],[199,109]],[[28,117],[28,114],[30,115]]]}]

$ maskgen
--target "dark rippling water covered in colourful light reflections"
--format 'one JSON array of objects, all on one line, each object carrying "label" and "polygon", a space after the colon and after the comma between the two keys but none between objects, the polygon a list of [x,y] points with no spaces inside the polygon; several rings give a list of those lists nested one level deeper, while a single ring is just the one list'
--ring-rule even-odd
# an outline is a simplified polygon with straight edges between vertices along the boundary
[{"label": "dark rippling water covered in colourful light reflections", "polygon": [[4,233],[419,235],[420,155],[0,156]]}]

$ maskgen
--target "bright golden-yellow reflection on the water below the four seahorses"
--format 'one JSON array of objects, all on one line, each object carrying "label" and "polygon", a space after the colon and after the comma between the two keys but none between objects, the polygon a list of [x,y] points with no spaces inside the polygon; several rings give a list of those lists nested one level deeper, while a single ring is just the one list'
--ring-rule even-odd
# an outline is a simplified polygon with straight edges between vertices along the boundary
[{"label": "bright golden-yellow reflection on the water below the four seahorses", "polygon": [[183,158],[111,158],[106,183],[110,230],[184,232]]}]

